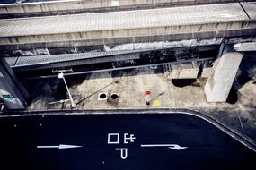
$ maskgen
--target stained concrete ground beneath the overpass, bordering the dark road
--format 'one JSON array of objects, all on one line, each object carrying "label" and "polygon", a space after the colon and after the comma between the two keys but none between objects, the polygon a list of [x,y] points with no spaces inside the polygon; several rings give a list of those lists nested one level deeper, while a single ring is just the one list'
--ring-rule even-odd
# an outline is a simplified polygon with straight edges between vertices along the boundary
[{"label": "stained concrete ground beneath the overpass, bordering the dark road", "polygon": [[[237,103],[234,105],[225,102],[208,103],[203,88],[206,79],[199,79],[193,85],[183,88],[176,87],[173,85],[172,80],[164,76],[163,69],[160,67],[156,70],[140,68],[128,71],[95,72],[85,76],[79,83],[71,82],[74,79],[74,77],[66,76],[71,94],[75,103],[77,103],[75,109],[201,109],[203,107],[234,108],[238,106]],[[33,102],[28,107],[28,110],[70,108],[70,102],[68,101],[49,106],[50,102],[68,98],[63,83],[57,81],[57,78],[40,82],[39,87],[45,90],[45,92],[39,97],[33,98]],[[151,91],[150,98],[153,99],[149,106],[146,105],[145,100],[146,90]],[[62,91],[61,98],[57,91]],[[106,100],[99,101],[98,94],[100,92],[119,94],[119,102],[111,104]]]}]

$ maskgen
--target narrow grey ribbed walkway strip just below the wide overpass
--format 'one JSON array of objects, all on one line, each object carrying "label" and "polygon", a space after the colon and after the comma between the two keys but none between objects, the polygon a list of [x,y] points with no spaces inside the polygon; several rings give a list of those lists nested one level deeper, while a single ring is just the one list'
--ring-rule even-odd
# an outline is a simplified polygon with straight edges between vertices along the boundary
[{"label": "narrow grey ribbed walkway strip just below the wide overpass", "polygon": [[[117,50],[105,52],[88,52],[76,54],[59,54],[59,55],[30,55],[30,56],[17,56],[5,57],[6,62],[16,70],[29,70],[41,65],[46,67],[61,67],[61,66],[74,66],[81,64],[97,64],[112,61],[128,61],[139,59],[141,54],[150,54],[151,52],[164,52],[172,51],[176,55],[186,53],[188,50],[207,51],[214,50],[219,45],[209,46],[191,46],[191,47],[163,47],[163,48],[148,48],[148,49],[135,49],[135,50]],[[66,64],[64,64],[66,63]],[[55,66],[54,66],[54,65]],[[64,64],[64,65],[63,65]]]}]

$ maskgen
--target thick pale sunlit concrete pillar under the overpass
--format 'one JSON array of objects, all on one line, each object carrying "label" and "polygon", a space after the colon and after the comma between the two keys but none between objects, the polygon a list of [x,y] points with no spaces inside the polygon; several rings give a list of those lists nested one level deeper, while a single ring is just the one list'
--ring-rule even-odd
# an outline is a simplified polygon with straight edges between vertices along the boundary
[{"label": "thick pale sunlit concrete pillar under the overpass", "polygon": [[241,53],[227,52],[216,60],[204,88],[208,102],[226,101],[242,58]]}]

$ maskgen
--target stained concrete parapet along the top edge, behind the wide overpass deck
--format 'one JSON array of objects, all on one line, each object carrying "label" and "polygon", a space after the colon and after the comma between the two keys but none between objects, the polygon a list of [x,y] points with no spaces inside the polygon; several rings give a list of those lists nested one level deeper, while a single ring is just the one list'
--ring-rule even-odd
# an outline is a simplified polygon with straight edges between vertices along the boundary
[{"label": "stained concrete parapet along the top edge, behind the wide overpass deck", "polygon": [[189,4],[215,4],[234,0],[75,0],[24,4],[0,4],[0,18],[49,14],[113,11]]}]

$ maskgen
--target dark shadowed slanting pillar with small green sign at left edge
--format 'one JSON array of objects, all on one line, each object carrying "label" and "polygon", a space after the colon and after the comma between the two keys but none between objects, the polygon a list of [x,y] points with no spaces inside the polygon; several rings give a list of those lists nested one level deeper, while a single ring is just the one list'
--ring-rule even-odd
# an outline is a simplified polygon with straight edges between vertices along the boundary
[{"label": "dark shadowed slanting pillar with small green sign at left edge", "polygon": [[4,58],[0,58],[0,98],[4,100],[4,105],[10,110],[24,109],[26,99],[29,98],[27,90]]}]

